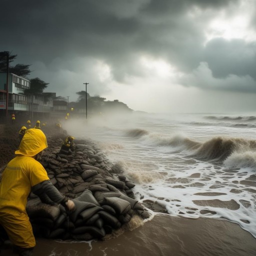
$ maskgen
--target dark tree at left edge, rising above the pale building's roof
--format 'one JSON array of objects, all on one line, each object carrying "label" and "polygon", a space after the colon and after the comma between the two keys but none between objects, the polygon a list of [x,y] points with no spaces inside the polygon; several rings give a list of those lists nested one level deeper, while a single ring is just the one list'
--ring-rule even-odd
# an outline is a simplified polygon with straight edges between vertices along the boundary
[{"label": "dark tree at left edge, rising above the pale building's roof", "polygon": [[[12,62],[16,57],[16,55],[11,55],[9,51],[0,51],[0,71],[6,72],[7,66],[6,66],[6,57],[9,56],[9,63]],[[10,65],[9,64],[9,73],[16,74],[18,76],[26,77],[30,74],[30,65],[25,64],[16,64],[16,65]]]}]

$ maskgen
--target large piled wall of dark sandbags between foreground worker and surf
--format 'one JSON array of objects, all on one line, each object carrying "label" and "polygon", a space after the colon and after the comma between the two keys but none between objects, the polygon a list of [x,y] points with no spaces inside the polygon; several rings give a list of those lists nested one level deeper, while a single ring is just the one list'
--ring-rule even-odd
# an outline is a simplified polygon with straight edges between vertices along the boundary
[{"label": "large piled wall of dark sandbags between foreground worker and surf", "polygon": [[120,228],[133,214],[145,218],[143,207],[133,198],[134,184],[123,175],[111,174],[111,164],[88,144],[78,143],[74,152],[58,155],[61,140],[48,140],[41,159],[51,182],[72,198],[76,208],[68,213],[61,205],[42,203],[31,194],[27,213],[35,236],[90,240]]}]

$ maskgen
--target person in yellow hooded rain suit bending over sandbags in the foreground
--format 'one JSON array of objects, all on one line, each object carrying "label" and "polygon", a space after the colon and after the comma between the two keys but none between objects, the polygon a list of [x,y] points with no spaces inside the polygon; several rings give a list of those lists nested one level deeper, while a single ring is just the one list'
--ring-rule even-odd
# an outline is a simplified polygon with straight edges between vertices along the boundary
[{"label": "person in yellow hooded rain suit bending over sandbags in the foreground", "polygon": [[70,211],[75,208],[74,202],[52,185],[46,170],[37,161],[46,147],[46,137],[40,129],[27,129],[15,151],[16,156],[8,162],[1,176],[0,225],[22,256],[32,255],[35,246],[25,209],[30,191],[40,198],[47,197],[51,202],[61,203]]}]

